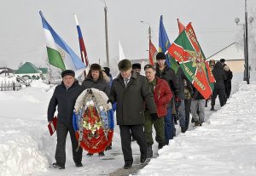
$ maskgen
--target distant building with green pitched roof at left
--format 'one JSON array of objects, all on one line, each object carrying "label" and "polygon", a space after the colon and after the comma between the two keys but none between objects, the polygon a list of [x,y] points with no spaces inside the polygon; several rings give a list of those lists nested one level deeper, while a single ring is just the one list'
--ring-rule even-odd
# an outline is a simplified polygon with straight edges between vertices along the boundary
[{"label": "distant building with green pitched roof at left", "polygon": [[23,77],[25,79],[45,79],[48,74],[47,68],[38,68],[30,62],[26,62],[24,65],[21,65],[20,68],[15,71],[15,76]]}]

